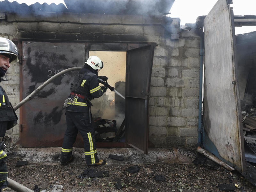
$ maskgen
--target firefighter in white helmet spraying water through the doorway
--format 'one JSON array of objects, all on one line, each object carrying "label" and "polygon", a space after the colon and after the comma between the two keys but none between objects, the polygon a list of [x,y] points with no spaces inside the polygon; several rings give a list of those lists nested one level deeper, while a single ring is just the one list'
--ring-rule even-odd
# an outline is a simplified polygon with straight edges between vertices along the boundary
[{"label": "firefighter in white helmet spraying water through the doorway", "polygon": [[[86,60],[84,67],[76,74],[71,84],[71,93],[66,100],[67,130],[61,149],[60,162],[62,165],[70,163],[72,146],[75,143],[76,135],[81,133],[84,140],[84,155],[87,165],[103,165],[105,160],[100,160],[97,156],[95,132],[92,126],[91,100],[99,98],[107,91],[107,87],[100,86],[98,72],[103,68],[103,62],[99,57],[91,56]],[[107,80],[108,77],[100,76]]]}]

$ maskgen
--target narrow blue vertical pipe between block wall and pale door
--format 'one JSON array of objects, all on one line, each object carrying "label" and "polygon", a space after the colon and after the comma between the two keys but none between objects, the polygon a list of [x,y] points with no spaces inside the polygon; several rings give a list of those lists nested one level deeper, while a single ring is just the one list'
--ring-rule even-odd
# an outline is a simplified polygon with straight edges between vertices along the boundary
[{"label": "narrow blue vertical pipe between block wall and pale door", "polygon": [[199,70],[199,105],[198,105],[198,142],[202,146],[202,90],[203,90],[203,62],[204,62],[204,23],[197,23],[200,27],[200,70]]}]

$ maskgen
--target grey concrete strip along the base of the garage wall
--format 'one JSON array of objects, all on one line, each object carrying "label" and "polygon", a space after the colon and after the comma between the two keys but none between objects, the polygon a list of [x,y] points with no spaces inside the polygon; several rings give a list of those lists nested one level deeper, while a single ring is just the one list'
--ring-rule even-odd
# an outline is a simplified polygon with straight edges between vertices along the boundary
[{"label": "grey concrete strip along the base of the garage wall", "polygon": [[[60,164],[61,148],[19,148],[15,156],[21,157],[20,161],[30,163]],[[9,152],[12,158],[12,151]],[[196,150],[186,148],[149,148],[148,155],[134,148],[97,148],[100,159],[106,159],[108,165],[121,164],[148,164],[148,163],[180,163],[191,164],[196,157]],[[123,156],[124,161],[109,159],[108,155]],[[7,153],[8,155],[8,153]],[[84,161],[84,149],[73,148],[75,161]]]}]

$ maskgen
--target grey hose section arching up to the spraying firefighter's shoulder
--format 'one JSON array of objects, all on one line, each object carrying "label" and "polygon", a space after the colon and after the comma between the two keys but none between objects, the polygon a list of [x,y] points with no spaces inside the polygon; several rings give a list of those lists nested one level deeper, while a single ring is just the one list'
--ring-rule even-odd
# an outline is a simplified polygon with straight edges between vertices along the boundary
[{"label": "grey hose section arching up to the spraying firefighter's shoulder", "polygon": [[52,76],[50,79],[48,79],[47,81],[45,81],[43,84],[41,84],[35,91],[33,91],[32,93],[30,93],[25,99],[23,99],[22,101],[20,101],[15,107],[14,107],[14,111],[16,111],[18,108],[20,108],[22,105],[24,105],[27,101],[31,100],[34,95],[41,91],[46,85],[48,85],[49,83],[51,83],[54,79],[56,79],[57,77],[63,75],[64,73],[68,73],[70,71],[76,71],[76,70],[80,70],[82,69],[81,67],[73,67],[73,68],[68,68],[65,69],[63,71],[61,71],[60,73],[57,73],[56,75]]}]

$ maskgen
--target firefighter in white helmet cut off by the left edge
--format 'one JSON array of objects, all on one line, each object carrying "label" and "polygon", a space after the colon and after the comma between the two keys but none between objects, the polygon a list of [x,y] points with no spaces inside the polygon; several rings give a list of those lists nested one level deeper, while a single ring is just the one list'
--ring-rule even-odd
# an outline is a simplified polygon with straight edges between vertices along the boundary
[{"label": "firefighter in white helmet cut off by the left edge", "polygon": [[[0,37],[0,82],[6,81],[4,77],[11,64],[19,61],[19,53],[16,45],[9,39]],[[0,86],[0,189],[8,185],[8,171],[5,164],[7,155],[4,152],[4,135],[6,130],[17,124],[18,117],[10,103],[6,92]]]}]

